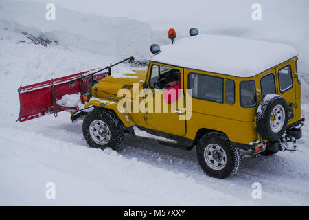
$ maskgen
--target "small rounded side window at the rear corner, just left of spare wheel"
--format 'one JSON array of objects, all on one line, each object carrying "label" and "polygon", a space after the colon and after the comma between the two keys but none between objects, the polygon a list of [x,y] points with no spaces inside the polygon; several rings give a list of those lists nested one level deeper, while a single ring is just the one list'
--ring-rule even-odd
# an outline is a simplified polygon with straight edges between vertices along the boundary
[{"label": "small rounded side window at the rear corner, just left of spare wheel", "polygon": [[254,107],[256,104],[255,83],[251,81],[240,82],[240,105],[242,107]]}]

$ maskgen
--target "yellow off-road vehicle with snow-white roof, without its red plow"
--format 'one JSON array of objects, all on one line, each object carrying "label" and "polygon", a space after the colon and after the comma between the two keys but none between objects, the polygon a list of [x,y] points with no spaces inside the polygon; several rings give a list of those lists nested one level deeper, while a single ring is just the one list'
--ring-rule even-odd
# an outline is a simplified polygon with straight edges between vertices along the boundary
[{"label": "yellow off-road vehicle with snow-white roof, without its red plow", "polygon": [[198,35],[195,28],[176,42],[174,30],[169,34],[172,44],[151,46],[147,71],[102,78],[84,109],[71,115],[83,120],[89,146],[117,149],[124,133],[195,146],[201,168],[220,179],[236,173],[242,156],[296,150],[304,118],[293,47]]}]

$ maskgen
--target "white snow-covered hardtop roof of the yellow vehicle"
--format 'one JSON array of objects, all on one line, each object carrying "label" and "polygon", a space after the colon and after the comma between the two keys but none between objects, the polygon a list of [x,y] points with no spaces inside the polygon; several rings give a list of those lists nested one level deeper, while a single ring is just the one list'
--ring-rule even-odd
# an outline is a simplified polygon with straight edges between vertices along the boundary
[{"label": "white snow-covered hardtop roof of the yellow vehicle", "polygon": [[190,69],[251,77],[297,56],[289,45],[232,36],[198,35],[163,45],[150,61]]}]

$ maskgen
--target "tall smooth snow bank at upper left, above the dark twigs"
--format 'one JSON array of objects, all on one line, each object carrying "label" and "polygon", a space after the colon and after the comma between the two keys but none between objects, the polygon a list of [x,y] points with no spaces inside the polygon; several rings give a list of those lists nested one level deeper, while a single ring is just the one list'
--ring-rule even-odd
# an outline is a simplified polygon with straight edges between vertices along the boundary
[{"label": "tall smooth snow bank at upper left, above the dark twigs", "polygon": [[28,30],[30,33],[34,28],[38,28],[47,38],[57,40],[61,45],[108,56],[145,58],[150,54],[149,45],[154,41],[160,44],[168,42],[165,34],[152,30],[146,23],[122,17],[83,14],[60,8],[58,5],[56,20],[47,21],[45,6],[45,3],[1,1],[0,19],[33,27]]}]

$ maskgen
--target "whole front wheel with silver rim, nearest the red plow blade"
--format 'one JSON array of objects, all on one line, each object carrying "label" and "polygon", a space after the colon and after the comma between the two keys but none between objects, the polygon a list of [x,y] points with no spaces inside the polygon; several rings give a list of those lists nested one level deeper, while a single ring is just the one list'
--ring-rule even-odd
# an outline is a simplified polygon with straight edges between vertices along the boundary
[{"label": "whole front wheel with silver rim, nearest the red plow blade", "polygon": [[87,144],[93,148],[114,150],[124,140],[122,122],[115,113],[106,109],[91,111],[82,124],[82,132]]}]

